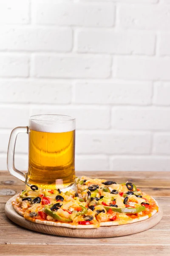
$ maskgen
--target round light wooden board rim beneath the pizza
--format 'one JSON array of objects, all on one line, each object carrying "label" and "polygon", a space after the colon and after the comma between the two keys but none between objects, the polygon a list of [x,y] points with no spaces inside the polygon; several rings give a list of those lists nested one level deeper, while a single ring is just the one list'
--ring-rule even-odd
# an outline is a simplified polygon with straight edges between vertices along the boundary
[{"label": "round light wooden board rim beneath the pizza", "polygon": [[154,227],[162,218],[162,209],[159,207],[159,212],[156,212],[152,217],[139,221],[136,223],[119,225],[119,226],[109,226],[109,227],[99,227],[96,229],[75,229],[68,227],[55,227],[48,226],[44,224],[38,224],[26,220],[23,216],[15,212],[12,207],[11,202],[16,198],[17,195],[13,196],[8,200],[5,206],[5,212],[7,217],[21,227],[25,227],[29,230],[34,230],[40,233],[46,233],[56,236],[70,236],[70,237],[84,237],[84,238],[104,238],[104,237],[114,237],[114,236],[127,236],[135,233],[148,230]]}]

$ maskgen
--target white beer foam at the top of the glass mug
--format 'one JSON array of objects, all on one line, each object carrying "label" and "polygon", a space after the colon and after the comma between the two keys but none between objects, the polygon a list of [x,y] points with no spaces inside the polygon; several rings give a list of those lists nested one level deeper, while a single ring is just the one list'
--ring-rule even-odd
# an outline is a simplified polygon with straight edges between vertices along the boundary
[{"label": "white beer foam at the top of the glass mug", "polygon": [[73,131],[76,128],[76,120],[64,115],[36,115],[29,118],[29,128],[51,133]]}]

